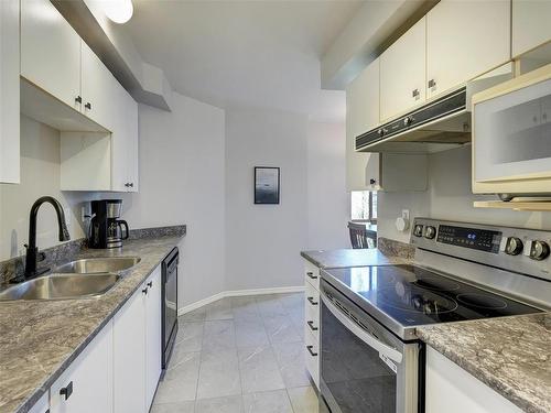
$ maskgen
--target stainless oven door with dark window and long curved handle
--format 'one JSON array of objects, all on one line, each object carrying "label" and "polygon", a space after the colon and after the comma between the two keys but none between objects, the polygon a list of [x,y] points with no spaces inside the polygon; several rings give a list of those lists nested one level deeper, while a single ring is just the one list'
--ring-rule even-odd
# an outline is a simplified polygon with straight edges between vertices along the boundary
[{"label": "stainless oven door with dark window and long curved handle", "polygon": [[420,349],[322,281],[320,387],[332,413],[420,412]]}]

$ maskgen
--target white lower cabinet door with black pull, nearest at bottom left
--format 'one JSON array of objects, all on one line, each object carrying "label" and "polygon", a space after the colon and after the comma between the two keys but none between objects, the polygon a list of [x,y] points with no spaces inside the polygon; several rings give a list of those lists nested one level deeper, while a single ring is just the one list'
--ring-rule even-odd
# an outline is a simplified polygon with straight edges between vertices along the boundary
[{"label": "white lower cabinet door with black pull, nearest at bottom left", "polygon": [[112,325],[109,323],[50,388],[51,413],[112,412]]}]

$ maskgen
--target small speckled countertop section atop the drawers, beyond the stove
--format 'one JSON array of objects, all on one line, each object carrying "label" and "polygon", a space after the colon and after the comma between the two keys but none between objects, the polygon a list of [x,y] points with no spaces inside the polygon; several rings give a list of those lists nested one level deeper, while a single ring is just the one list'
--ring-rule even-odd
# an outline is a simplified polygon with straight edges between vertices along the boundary
[{"label": "small speckled countertop section atop the drawers, beyond the stove", "polygon": [[377,249],[302,251],[301,256],[321,269],[403,264],[407,262],[403,258],[385,256]]}]

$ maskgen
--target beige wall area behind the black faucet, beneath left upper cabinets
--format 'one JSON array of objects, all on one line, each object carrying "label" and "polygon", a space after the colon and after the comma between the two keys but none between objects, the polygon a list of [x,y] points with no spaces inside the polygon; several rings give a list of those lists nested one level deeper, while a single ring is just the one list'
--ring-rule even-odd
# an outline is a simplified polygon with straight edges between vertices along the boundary
[{"label": "beige wall area behind the black faucet, beneath left upper cabinets", "polygon": [[[55,197],[65,209],[72,238],[83,237],[77,216],[79,205],[89,199],[89,193],[60,191],[60,132],[21,116],[21,184],[0,184],[0,261],[24,253],[28,242],[29,213],[32,204],[43,195]],[[42,248],[58,243],[57,219],[54,209],[45,204],[39,211],[37,244]]]}]

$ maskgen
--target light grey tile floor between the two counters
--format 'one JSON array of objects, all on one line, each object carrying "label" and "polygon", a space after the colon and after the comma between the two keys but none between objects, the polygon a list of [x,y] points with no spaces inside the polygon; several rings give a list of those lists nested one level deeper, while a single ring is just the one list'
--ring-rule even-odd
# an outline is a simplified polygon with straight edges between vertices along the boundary
[{"label": "light grey tile floor between the two counters", "polygon": [[152,413],[317,413],[303,293],[224,298],[179,322]]}]

